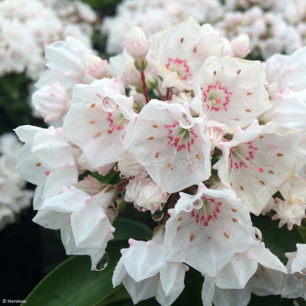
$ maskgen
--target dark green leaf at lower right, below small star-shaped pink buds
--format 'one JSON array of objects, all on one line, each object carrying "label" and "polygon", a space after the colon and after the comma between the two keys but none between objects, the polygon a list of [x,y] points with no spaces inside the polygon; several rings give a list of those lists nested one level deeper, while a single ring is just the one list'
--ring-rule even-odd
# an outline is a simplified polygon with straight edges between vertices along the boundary
[{"label": "dark green leaf at lower right, below small star-shaped pink buds", "polygon": [[302,236],[296,227],[293,227],[291,231],[284,225],[278,228],[279,220],[271,220],[267,216],[252,216],[253,226],[259,228],[263,234],[263,242],[266,248],[278,256],[278,258],[286,263],[285,252],[295,252],[297,250],[297,243],[305,243],[305,238]]}]

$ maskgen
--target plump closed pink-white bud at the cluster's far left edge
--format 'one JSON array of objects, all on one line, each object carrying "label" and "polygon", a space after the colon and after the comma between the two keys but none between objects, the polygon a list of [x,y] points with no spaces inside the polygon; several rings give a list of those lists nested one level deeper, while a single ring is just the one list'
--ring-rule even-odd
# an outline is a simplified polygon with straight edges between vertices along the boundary
[{"label": "plump closed pink-white bud at the cluster's far left edge", "polygon": [[59,82],[36,91],[32,96],[32,102],[45,122],[61,119],[67,114],[71,105],[67,92]]}]

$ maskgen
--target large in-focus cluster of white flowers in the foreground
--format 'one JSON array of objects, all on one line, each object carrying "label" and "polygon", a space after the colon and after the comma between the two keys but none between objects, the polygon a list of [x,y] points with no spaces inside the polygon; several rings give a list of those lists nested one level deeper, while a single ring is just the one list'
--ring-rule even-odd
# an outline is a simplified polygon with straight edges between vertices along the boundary
[{"label": "large in-focus cluster of white flowers in the foreground", "polygon": [[[192,17],[151,40],[132,28],[124,46],[108,63],[73,38],[46,47],[33,102],[62,126],[15,129],[17,170],[37,185],[33,221],[100,270],[118,208],[149,211],[154,236],[130,239],[113,274],[135,304],[172,304],[188,266],[204,276],[204,305],[305,297],[305,245],[284,266],[250,213],[273,210],[289,230],[305,217],[306,47],[262,67]],[[109,172],[118,184],[95,178]]]}]

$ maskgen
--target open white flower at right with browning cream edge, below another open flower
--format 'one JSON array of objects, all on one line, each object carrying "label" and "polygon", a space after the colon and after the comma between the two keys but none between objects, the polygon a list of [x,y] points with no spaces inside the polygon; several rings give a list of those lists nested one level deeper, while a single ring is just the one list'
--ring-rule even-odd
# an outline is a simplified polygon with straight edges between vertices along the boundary
[{"label": "open white flower at right with browning cream edge, below another open flower", "polygon": [[259,215],[271,196],[294,175],[300,132],[257,120],[236,129],[233,139],[219,143],[222,157],[214,168],[224,185]]}]

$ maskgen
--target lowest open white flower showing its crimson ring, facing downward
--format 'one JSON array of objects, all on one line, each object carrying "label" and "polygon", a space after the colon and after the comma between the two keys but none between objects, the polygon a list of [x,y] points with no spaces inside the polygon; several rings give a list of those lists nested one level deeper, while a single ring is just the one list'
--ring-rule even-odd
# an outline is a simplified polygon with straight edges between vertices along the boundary
[{"label": "lowest open white flower showing its crimson ring, facing downward", "polygon": [[[227,188],[207,189],[181,198],[166,222],[165,250],[169,261],[184,262],[216,276],[237,252],[256,246],[248,208]],[[199,256],[200,254],[200,256]]]}]

